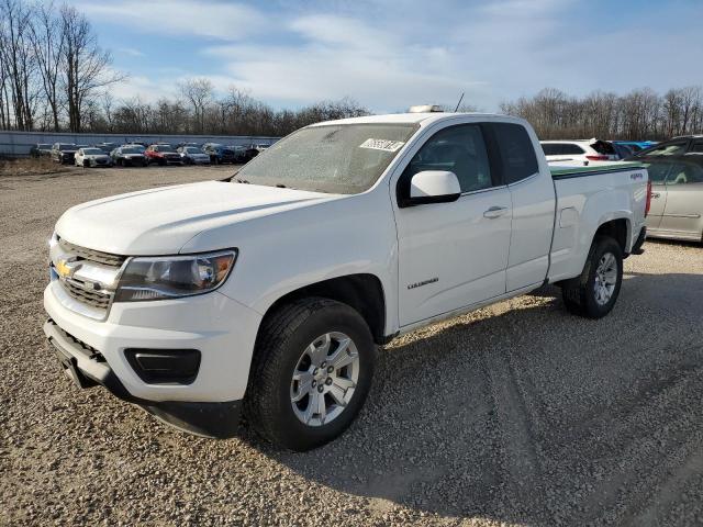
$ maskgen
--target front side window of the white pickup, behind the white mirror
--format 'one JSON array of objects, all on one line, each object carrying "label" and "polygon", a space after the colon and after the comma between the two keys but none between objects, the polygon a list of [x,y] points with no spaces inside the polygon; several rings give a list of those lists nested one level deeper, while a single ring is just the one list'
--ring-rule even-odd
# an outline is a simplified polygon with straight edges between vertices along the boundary
[{"label": "front side window of the white pickup, behind the white mirror", "polygon": [[411,159],[399,186],[410,186],[410,179],[424,170],[456,173],[461,192],[491,187],[493,183],[481,127],[478,124],[460,124],[437,132]]}]

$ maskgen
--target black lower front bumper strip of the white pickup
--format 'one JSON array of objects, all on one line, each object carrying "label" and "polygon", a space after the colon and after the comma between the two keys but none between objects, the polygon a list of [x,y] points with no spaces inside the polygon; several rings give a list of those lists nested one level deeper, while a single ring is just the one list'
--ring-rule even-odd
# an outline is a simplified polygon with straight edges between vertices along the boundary
[{"label": "black lower front bumper strip of the white pickup", "polygon": [[101,354],[71,338],[51,318],[44,333],[54,347],[64,372],[80,388],[101,384],[114,396],[142,406],[165,423],[185,431],[205,437],[225,438],[236,434],[242,401],[221,403],[147,401],[132,395],[114,374]]}]

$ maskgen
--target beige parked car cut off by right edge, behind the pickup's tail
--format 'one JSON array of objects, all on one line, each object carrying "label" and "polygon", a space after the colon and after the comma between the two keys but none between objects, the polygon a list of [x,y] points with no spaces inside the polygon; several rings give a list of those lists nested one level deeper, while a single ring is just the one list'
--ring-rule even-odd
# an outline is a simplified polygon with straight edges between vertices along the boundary
[{"label": "beige parked car cut off by right edge, behind the pickup's tail", "polygon": [[703,242],[703,155],[655,155],[638,160],[651,181],[647,236]]}]

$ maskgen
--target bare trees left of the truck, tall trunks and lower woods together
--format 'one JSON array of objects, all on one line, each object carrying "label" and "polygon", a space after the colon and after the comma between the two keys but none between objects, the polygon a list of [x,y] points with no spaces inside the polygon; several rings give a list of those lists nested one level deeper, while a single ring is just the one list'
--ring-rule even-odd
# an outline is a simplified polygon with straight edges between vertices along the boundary
[{"label": "bare trees left of the truck, tall trunks and lower woods together", "polygon": [[347,98],[274,110],[234,86],[215,97],[203,78],[156,102],[115,100],[111,88],[125,79],[74,7],[0,0],[0,130],[282,136],[369,113]]}]

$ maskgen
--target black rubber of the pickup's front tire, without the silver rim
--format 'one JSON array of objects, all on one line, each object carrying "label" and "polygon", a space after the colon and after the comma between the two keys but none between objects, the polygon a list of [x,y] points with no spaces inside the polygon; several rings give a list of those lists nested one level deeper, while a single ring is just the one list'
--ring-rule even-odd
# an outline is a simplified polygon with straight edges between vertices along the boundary
[{"label": "black rubber of the pickup's front tire, without the silver rim", "polygon": [[[309,426],[293,412],[292,374],[305,348],[330,332],[352,338],[358,350],[359,375],[344,411],[327,424]],[[245,397],[247,421],[264,438],[290,450],[310,450],[331,441],[347,429],[364,405],[376,356],[368,325],[348,305],[321,298],[283,305],[266,317],[257,338]]]}]

